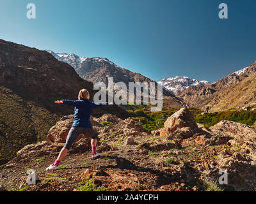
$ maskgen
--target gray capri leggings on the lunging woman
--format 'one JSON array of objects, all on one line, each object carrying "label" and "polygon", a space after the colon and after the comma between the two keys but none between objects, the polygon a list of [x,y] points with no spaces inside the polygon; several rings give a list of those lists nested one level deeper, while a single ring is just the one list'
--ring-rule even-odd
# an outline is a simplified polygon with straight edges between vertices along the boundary
[{"label": "gray capri leggings on the lunging woman", "polygon": [[98,133],[95,132],[93,128],[81,128],[72,126],[72,128],[68,132],[64,147],[69,150],[74,141],[76,140],[77,136],[80,134],[88,136],[92,139],[98,139]]}]

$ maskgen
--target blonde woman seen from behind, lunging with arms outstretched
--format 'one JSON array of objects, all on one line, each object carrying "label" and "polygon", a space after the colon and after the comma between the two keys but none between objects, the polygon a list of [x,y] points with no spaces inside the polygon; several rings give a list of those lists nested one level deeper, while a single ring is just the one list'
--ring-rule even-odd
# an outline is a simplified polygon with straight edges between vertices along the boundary
[{"label": "blonde woman seen from behind, lunging with arms outstretched", "polygon": [[100,155],[96,152],[97,138],[98,134],[93,130],[92,124],[90,122],[90,115],[94,108],[100,108],[102,106],[108,105],[96,105],[95,103],[89,101],[90,94],[86,89],[82,89],[79,91],[78,100],[77,101],[68,101],[68,100],[58,100],[54,103],[65,104],[69,106],[75,107],[74,113],[74,122],[72,124],[72,128],[70,129],[66,143],[64,147],[61,149],[60,154],[56,161],[51,164],[46,170],[56,170],[58,169],[61,160],[67,155],[68,150],[70,149],[72,143],[76,140],[77,136],[80,134],[84,134],[86,136],[90,136],[92,138],[92,157],[96,158]]}]

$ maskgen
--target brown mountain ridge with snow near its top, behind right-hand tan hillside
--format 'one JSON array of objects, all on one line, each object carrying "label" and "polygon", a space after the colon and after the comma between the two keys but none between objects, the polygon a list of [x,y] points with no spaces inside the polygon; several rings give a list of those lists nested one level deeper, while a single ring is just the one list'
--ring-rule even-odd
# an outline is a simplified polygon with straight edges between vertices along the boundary
[{"label": "brown mountain ridge with snow near its top, behind right-hand tan hillside", "polygon": [[[237,84],[244,80],[247,77],[253,75],[256,72],[256,61],[247,68],[243,68],[239,71],[228,74],[226,77],[221,78],[217,82],[207,83],[207,84],[198,84],[184,89],[184,91],[178,94],[178,97],[183,99],[185,103],[189,106],[195,106],[202,108],[207,106],[207,103],[210,103],[213,98],[218,98],[219,94],[231,87],[234,84]],[[230,103],[227,98],[227,103]],[[234,106],[236,108],[236,106]],[[238,108],[238,107],[237,107]]]}]

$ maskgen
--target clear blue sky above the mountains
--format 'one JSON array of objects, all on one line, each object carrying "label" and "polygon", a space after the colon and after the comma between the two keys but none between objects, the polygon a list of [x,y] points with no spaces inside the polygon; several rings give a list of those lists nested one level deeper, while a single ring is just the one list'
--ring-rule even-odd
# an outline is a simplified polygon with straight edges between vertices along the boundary
[{"label": "clear blue sky above the mountains", "polygon": [[[26,18],[28,3],[36,19]],[[218,18],[227,3],[228,19]],[[0,38],[109,60],[154,80],[216,81],[256,60],[255,0],[1,0]]]}]

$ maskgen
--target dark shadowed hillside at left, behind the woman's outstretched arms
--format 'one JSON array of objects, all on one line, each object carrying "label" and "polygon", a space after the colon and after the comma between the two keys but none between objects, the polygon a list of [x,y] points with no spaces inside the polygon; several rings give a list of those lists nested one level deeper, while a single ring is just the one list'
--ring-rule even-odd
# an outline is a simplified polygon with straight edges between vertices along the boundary
[{"label": "dark shadowed hillside at left, behind the woman's outstretched arms", "polygon": [[[56,99],[77,99],[80,89],[93,91],[92,82],[80,78],[67,63],[48,52],[0,40],[0,164],[29,143],[46,138],[47,132],[72,107]],[[93,115],[127,112],[117,106],[99,108]]]}]

